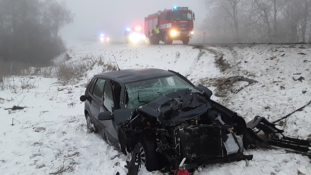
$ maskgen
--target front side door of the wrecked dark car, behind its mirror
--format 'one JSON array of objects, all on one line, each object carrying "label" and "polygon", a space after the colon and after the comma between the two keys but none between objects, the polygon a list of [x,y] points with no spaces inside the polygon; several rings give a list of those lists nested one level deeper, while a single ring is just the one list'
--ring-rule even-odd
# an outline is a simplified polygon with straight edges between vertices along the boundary
[{"label": "front side door of the wrecked dark car, behind its mirror", "polygon": [[[103,99],[103,104],[101,106],[103,110],[113,112],[116,108],[116,100],[112,83],[110,81],[105,82]],[[117,138],[117,130],[115,127],[115,119],[113,118],[112,120],[101,120],[100,122],[104,126],[105,135],[108,141],[113,144],[117,149],[120,149],[119,141]]]}]

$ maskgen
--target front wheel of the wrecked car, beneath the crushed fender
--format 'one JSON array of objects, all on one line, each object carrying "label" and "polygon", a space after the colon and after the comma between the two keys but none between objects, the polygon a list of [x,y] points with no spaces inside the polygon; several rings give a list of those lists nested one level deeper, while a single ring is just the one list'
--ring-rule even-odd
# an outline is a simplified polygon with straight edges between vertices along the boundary
[{"label": "front wheel of the wrecked car, beneath the crushed fender", "polygon": [[143,139],[139,144],[141,165],[145,165],[150,172],[161,170],[161,156],[156,152],[156,142],[151,139]]}]

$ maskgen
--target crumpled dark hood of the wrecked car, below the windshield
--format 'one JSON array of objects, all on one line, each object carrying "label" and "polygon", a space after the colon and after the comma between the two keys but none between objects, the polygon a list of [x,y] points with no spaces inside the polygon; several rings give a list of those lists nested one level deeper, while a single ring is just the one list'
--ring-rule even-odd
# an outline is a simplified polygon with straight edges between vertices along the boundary
[{"label": "crumpled dark hood of the wrecked car, below the windshield", "polygon": [[138,112],[157,117],[161,125],[176,126],[212,108],[211,91],[203,86],[178,90],[137,108]]}]

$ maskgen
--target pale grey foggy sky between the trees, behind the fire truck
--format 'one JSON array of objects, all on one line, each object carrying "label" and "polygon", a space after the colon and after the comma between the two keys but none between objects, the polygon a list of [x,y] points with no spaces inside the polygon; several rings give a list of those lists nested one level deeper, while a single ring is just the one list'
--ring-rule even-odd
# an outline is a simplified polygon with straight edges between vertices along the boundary
[{"label": "pale grey foggy sky between the trees, behind the fire truck", "polygon": [[127,27],[144,27],[144,18],[164,8],[188,6],[195,13],[194,35],[205,17],[199,0],[65,0],[75,14],[74,23],[61,29],[60,35],[68,47],[84,41],[94,41],[100,33],[112,41],[123,41]]}]

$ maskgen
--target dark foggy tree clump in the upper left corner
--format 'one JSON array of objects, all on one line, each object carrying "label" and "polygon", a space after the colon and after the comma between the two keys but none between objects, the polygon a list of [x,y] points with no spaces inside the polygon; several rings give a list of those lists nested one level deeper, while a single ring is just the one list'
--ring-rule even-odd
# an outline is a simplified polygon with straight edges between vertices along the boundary
[{"label": "dark foggy tree clump in the upper left corner", "polygon": [[0,0],[0,59],[46,65],[65,50],[58,32],[73,20],[64,2]]}]

